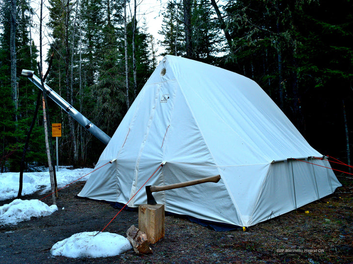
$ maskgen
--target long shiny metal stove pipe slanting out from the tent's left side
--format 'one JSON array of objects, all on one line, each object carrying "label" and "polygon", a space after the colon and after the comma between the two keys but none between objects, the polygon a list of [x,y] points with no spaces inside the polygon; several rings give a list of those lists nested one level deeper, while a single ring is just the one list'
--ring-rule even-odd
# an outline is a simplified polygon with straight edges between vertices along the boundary
[{"label": "long shiny metal stove pipe slanting out from the tent's left side", "polygon": [[41,80],[34,75],[32,70],[22,70],[22,76],[27,77],[29,81],[35,84],[38,88],[45,91],[47,95],[58,104],[63,110],[65,110],[69,115],[71,115],[82,127],[84,127],[88,132],[92,133],[105,145],[110,141],[110,136],[101,131],[99,127],[89,121],[84,115],[72,107],[68,102],[66,102],[60,95],[58,95],[54,90],[52,90],[48,85],[44,84],[44,89],[42,88]]}]

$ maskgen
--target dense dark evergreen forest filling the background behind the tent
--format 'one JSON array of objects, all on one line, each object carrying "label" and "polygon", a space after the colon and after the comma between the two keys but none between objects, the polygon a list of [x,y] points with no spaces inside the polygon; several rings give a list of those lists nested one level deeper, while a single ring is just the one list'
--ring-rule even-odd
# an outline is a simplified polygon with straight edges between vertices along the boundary
[{"label": "dense dark evergreen forest filling the background behind the tent", "polygon": [[[157,56],[191,58],[251,78],[311,146],[351,164],[352,0],[162,3],[160,54],[147,25],[134,19],[133,2],[49,0],[50,49],[43,60],[49,63],[51,54],[53,60],[46,83],[112,136]],[[36,107],[38,88],[21,77],[40,60],[33,16],[29,0],[0,0],[1,172],[19,170]],[[92,166],[104,144],[50,100],[47,111],[50,123],[62,123],[60,164]],[[41,108],[25,164],[27,170],[48,164]]]}]

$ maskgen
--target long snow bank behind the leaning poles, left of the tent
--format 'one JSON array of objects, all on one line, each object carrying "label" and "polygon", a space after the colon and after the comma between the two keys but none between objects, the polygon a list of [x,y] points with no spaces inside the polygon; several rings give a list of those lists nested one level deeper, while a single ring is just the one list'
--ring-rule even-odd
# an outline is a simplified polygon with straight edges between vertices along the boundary
[{"label": "long snow bank behind the leaning poles, left of the tent", "polygon": [[[70,182],[92,172],[92,169],[83,168],[70,170],[66,167],[59,167],[56,172],[58,188],[64,187]],[[79,181],[86,181],[89,175]],[[0,175],[0,200],[17,197],[19,190],[20,173],[2,173]],[[29,195],[42,189],[42,194],[50,192],[49,172],[24,173],[22,195]]]}]

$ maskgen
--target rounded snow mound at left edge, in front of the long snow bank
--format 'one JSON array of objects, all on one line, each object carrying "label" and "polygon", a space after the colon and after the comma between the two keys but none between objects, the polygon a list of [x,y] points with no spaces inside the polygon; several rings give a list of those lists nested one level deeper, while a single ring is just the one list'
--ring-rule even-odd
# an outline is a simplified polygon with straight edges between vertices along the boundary
[{"label": "rounded snow mound at left edge, in front of the long snow bank", "polygon": [[49,216],[58,210],[56,205],[48,206],[40,200],[15,199],[0,206],[0,225],[17,224],[31,217]]}]

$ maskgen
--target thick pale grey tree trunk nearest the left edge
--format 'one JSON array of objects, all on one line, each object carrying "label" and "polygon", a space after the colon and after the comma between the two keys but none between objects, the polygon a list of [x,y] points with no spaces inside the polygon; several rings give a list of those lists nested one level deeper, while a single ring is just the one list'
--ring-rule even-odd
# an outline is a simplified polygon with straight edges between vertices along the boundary
[{"label": "thick pale grey tree trunk nearest the left edge", "polygon": [[16,0],[10,7],[10,58],[11,58],[11,96],[15,107],[14,120],[17,121],[17,79],[16,79]]}]

